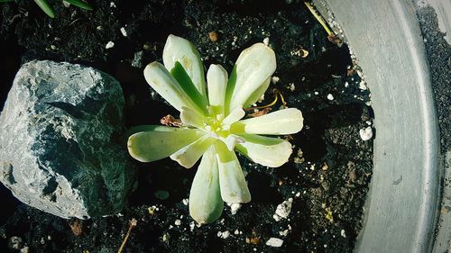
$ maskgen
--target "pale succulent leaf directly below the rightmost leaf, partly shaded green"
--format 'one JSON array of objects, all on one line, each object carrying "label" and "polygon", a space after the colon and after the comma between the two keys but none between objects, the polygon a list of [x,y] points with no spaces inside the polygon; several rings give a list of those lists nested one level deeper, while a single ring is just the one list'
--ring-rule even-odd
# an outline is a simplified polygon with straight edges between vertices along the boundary
[{"label": "pale succulent leaf directly below the rightmost leaf, partly shaded green", "polygon": [[292,149],[287,140],[253,134],[243,134],[241,137],[245,142],[236,144],[235,149],[262,166],[281,167],[290,158]]}]

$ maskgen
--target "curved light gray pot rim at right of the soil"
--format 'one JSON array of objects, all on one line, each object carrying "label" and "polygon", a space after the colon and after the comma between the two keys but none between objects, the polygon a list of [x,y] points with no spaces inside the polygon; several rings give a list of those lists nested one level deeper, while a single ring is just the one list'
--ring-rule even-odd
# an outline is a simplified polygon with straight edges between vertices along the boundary
[{"label": "curved light gray pot rim at right of the soil", "polygon": [[324,16],[330,10],[342,25],[372,90],[373,179],[354,251],[428,252],[439,200],[439,139],[413,4],[316,2]]}]

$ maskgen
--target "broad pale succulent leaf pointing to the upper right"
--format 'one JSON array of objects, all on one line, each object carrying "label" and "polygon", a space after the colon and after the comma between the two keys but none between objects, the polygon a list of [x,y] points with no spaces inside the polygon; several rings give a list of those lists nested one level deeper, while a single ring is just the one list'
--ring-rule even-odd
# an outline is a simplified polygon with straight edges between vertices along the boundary
[{"label": "broad pale succulent leaf pointing to the upper right", "polygon": [[253,44],[243,50],[236,60],[226,91],[227,112],[244,107],[260,88],[267,86],[267,80],[276,69],[274,51],[263,43]]}]

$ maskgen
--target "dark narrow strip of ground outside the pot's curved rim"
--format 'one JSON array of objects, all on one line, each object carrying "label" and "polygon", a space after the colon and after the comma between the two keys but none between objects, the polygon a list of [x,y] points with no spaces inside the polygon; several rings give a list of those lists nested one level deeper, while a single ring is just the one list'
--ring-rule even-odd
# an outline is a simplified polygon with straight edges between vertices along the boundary
[{"label": "dark narrow strip of ground outside the pot's curved rim", "polygon": [[[440,129],[441,162],[445,167],[442,177],[440,217],[437,221],[436,243],[434,250],[451,251],[449,245],[449,230],[451,216],[449,206],[451,199],[451,167],[449,158],[451,154],[451,45],[449,45],[440,32],[437,23],[437,14],[430,6],[418,6],[417,15],[419,27],[425,41],[427,51],[432,89],[437,105],[438,127]],[[447,36],[450,36],[448,34]]]}]

